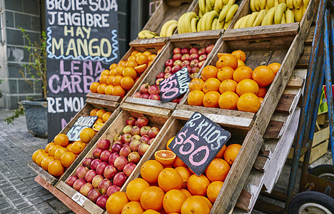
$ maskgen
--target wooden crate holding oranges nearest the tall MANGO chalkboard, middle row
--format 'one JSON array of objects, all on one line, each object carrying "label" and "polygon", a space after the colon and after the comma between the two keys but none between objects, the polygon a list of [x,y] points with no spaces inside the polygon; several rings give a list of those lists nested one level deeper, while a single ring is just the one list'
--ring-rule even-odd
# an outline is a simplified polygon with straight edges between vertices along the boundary
[{"label": "wooden crate holding oranges nearest the tall MANGO chalkboard, middle row", "polygon": [[[140,52],[150,51],[152,54],[157,54],[157,51],[159,49],[161,49],[161,52],[163,51],[165,44],[166,41],[157,41],[156,43],[153,44],[140,44],[131,46],[130,49],[126,52],[126,54],[124,54],[124,56],[121,58],[121,60],[126,61],[128,57],[131,56],[132,51],[140,51]],[[148,71],[150,71],[152,66],[158,61],[158,57],[160,55],[161,54],[158,54],[158,56],[156,56],[151,65],[149,65],[146,68],[146,70],[143,73],[141,73],[141,76],[139,77],[138,81],[136,81],[133,87],[128,91],[128,93],[126,93],[126,96],[124,96],[123,98],[121,98],[120,96],[112,96],[100,93],[88,93],[86,97],[90,99],[91,103],[98,104],[98,103],[106,103],[106,101],[108,101],[108,105],[118,106],[119,103],[123,103],[123,101],[128,97],[129,94],[132,94],[133,91],[135,91],[135,88],[137,88],[138,83],[141,82],[146,73],[148,73]]]}]

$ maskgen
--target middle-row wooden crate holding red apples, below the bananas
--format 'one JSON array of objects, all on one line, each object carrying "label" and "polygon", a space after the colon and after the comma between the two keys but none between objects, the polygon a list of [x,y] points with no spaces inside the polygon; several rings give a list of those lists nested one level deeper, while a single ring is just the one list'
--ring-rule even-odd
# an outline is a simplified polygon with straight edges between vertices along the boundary
[{"label": "middle-row wooden crate holding red apples, below the bananas", "polygon": [[169,58],[173,57],[173,49],[176,47],[179,47],[181,49],[186,47],[203,48],[211,44],[215,44],[211,53],[208,54],[206,63],[204,63],[202,68],[206,66],[208,62],[211,61],[211,58],[213,57],[213,53],[215,53],[216,48],[219,46],[219,44],[221,44],[220,36],[221,32],[216,32],[216,34],[211,34],[211,36],[197,34],[197,36],[193,36],[188,39],[181,39],[179,36],[171,36],[170,41],[160,54],[161,56],[158,57],[158,61],[153,65],[151,71],[148,72],[146,76],[141,79],[140,83],[136,84],[136,88],[134,88],[133,91],[131,90],[131,93],[128,94],[128,97],[126,97],[124,103],[121,105],[121,108],[136,111],[138,113],[152,112],[156,113],[157,115],[165,116],[167,118],[171,116],[171,113],[177,106],[176,103],[162,103],[161,101],[153,101],[143,98],[132,98],[131,96],[136,91],[139,91],[143,83],[150,83],[150,85],[152,85],[156,82],[156,75],[165,70],[165,62]]}]

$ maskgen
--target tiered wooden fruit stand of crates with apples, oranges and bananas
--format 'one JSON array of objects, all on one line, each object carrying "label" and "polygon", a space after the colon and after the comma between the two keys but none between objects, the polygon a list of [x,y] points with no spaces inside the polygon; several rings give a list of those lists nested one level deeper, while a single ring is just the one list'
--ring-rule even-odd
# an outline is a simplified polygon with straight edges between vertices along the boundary
[{"label": "tiered wooden fruit stand of crates with apples, oranges and bananas", "polygon": [[[205,14],[209,13],[210,10],[205,8],[203,12],[203,4],[208,6],[208,4],[212,4],[210,3],[211,1],[187,1],[180,7],[173,6],[171,2],[173,1],[163,1],[143,30],[158,33],[158,31],[163,29],[163,24],[166,21],[176,19],[180,23],[180,19],[182,21],[186,20],[184,18],[186,16],[183,17],[183,14],[191,12],[200,17],[196,18],[197,25],[200,25],[199,29],[208,29],[200,21],[209,20],[209,15]],[[223,6],[218,5],[217,2]],[[166,180],[160,178],[162,175],[156,175],[158,180],[155,181],[146,179],[147,175],[145,175],[145,169],[143,168],[145,165],[149,165],[148,163],[153,163],[150,161],[155,161],[154,164],[161,165],[159,166],[161,167],[159,172],[173,174],[182,168],[183,173],[190,173],[188,179],[196,180],[207,176],[208,178],[203,178],[207,183],[204,185],[205,188],[209,188],[209,185],[212,187],[213,184],[218,185],[220,190],[216,192],[214,198],[211,198],[209,196],[211,193],[198,193],[197,190],[193,190],[193,186],[196,186],[193,185],[194,181],[188,180],[188,183],[192,183],[188,186],[182,183],[182,189],[193,195],[191,197],[208,195],[208,198],[203,197],[206,200],[203,200],[203,198],[196,199],[198,203],[204,204],[203,207],[205,208],[203,209],[208,212],[230,213],[233,210],[233,213],[250,213],[260,194],[260,190],[264,188],[268,193],[273,190],[273,186],[278,180],[285,163],[285,158],[288,156],[288,149],[283,148],[290,148],[293,143],[297,129],[295,124],[298,123],[300,113],[300,108],[297,105],[302,96],[303,82],[306,76],[305,63],[307,66],[308,59],[307,50],[313,33],[313,27],[310,27],[310,25],[317,8],[317,1],[309,1],[307,6],[298,7],[298,12],[303,12],[303,16],[301,16],[303,18],[298,18],[299,22],[282,23],[280,21],[278,25],[274,25],[275,19],[272,16],[272,25],[263,24],[266,26],[245,27],[246,24],[244,24],[243,28],[238,29],[234,28],[239,25],[237,24],[239,19],[242,21],[244,16],[251,17],[252,12],[259,12],[260,9],[265,9],[265,6],[268,6],[271,2],[269,3],[268,1],[263,7],[262,5],[254,6],[253,1],[237,1],[236,5],[238,8],[233,6],[235,5],[234,3],[234,1],[216,0],[210,6],[211,11],[215,11],[214,9],[220,10],[221,14],[224,7],[228,9],[233,7],[233,11],[228,13],[226,9],[226,14],[222,15],[224,19],[227,16],[229,19],[223,24],[221,29],[217,29],[221,20],[219,17],[215,18],[213,16],[214,12],[212,12],[212,19],[209,22],[210,26],[214,27],[207,31],[186,32],[181,29],[182,33],[185,31],[184,34],[181,34],[178,28],[174,29],[173,36],[170,37],[154,38],[154,36],[147,36],[145,39],[141,39],[142,36],[138,36],[136,40],[132,41],[130,44],[131,49],[121,58],[120,63],[111,65],[110,71],[106,70],[105,74],[101,74],[100,81],[96,83],[96,88],[91,88],[91,93],[87,94],[86,105],[61,133],[68,133],[80,116],[98,116],[98,118],[101,116],[100,119],[102,120],[104,113],[109,111],[108,118],[106,116],[106,120],[102,120],[101,127],[94,129],[95,133],[91,134],[91,136],[88,134],[89,131],[87,131],[89,141],[85,143],[80,153],[76,153],[75,160],[67,167],[63,167],[63,172],[60,175],[51,175],[48,173],[49,168],[46,167],[45,169],[43,167],[43,163],[46,162],[44,158],[48,157],[49,154],[44,154],[45,157],[40,156],[40,154],[45,153],[45,151],[47,153],[49,148],[44,152],[39,151],[37,153],[36,151],[36,154],[34,153],[35,157],[33,156],[33,162],[29,163],[29,167],[38,173],[36,181],[43,185],[44,188],[50,190],[75,213],[106,213],[106,210],[110,211],[114,208],[113,205],[117,204],[115,197],[118,197],[119,200],[123,197],[123,200],[126,201],[126,203],[118,204],[121,209],[124,206],[124,209],[129,210],[137,209],[143,211],[143,209],[152,209],[163,213],[176,212],[175,210],[166,210],[167,205],[162,205],[163,196],[161,195],[156,196],[161,198],[161,205],[153,208],[147,205],[147,199],[142,199],[144,196],[139,197],[140,202],[138,202],[138,197],[136,200],[131,200],[131,198],[136,198],[136,194],[131,193],[133,191],[128,190],[128,188],[133,188],[133,186],[139,185],[138,183],[140,182],[145,183],[147,188],[151,188],[152,191],[154,188],[161,188],[164,192],[161,192],[161,194],[163,193],[164,196],[172,194],[169,193],[169,191],[173,190],[173,188],[169,188],[171,184],[167,185]],[[286,6],[289,8],[288,2],[286,2],[285,9],[281,5],[283,3],[280,1],[279,3],[273,3],[273,5],[279,8],[277,10],[280,11],[280,14],[285,14]],[[268,9],[268,13],[269,11],[270,9]],[[216,13],[218,16],[220,15],[217,11]],[[163,16],[164,14],[168,14],[168,16]],[[190,16],[191,14],[187,16],[187,19],[191,23],[193,19]],[[262,19],[264,19],[263,17]],[[255,18],[256,16],[253,17],[254,20]],[[217,20],[215,21],[214,19]],[[283,18],[280,17],[280,19]],[[252,95],[256,97],[256,104],[254,105],[258,107],[255,111],[243,111],[241,106],[223,109],[221,106],[224,106],[224,102],[219,101],[218,105],[218,100],[216,106],[211,106],[208,98],[203,98],[203,101],[201,98],[200,105],[193,105],[196,101],[196,98],[193,101],[191,97],[193,96],[193,91],[201,91],[204,97],[204,93],[211,93],[211,91],[205,91],[205,85],[202,85],[200,90],[193,90],[190,84],[190,90],[188,89],[181,99],[178,98],[176,101],[166,103],[161,102],[161,97],[158,95],[161,90],[159,88],[160,81],[180,71],[181,64],[182,67],[187,68],[189,66],[188,73],[191,79],[201,80],[203,83],[211,79],[211,77],[206,78],[208,68],[211,66],[211,68],[216,69],[216,79],[219,79],[219,83],[221,83],[226,80],[226,78],[220,79],[217,77],[219,69],[226,67],[225,64],[224,66],[219,65],[221,57],[225,57],[226,55],[224,54],[230,56],[233,51],[237,50],[241,50],[245,54],[245,58],[243,60],[238,58],[243,61],[243,65],[236,60],[236,67],[233,68],[233,72],[244,66],[254,72],[260,66],[269,67],[271,63],[280,64],[273,74],[273,79],[268,84],[262,84],[261,80],[256,81],[256,86],[264,88],[263,90],[266,93],[263,94],[261,101],[260,99],[258,100],[257,96]],[[200,51],[202,51],[202,54]],[[302,52],[303,55],[300,56]],[[147,56],[143,57],[145,60],[138,60],[138,57],[140,58],[141,55],[144,55],[143,53],[147,54]],[[153,55],[155,56],[150,58]],[[232,56],[235,57],[234,55]],[[133,58],[136,63],[129,63],[131,61],[129,58]],[[151,60],[148,60],[148,58]],[[193,61],[194,59],[197,61]],[[176,61],[181,64],[178,65],[175,63]],[[199,66],[200,62],[201,66]],[[131,87],[126,88],[127,85],[124,84],[125,87],[123,88],[123,83],[116,83],[115,78],[121,76],[121,81],[123,77],[131,76],[131,72],[130,74],[124,74],[124,71],[123,73],[118,73],[118,68],[121,66],[126,68],[130,65],[131,69],[129,70],[136,71],[136,76],[131,77],[134,80]],[[191,68],[193,67],[196,69],[192,70]],[[273,72],[272,68],[270,68],[270,72]],[[255,82],[255,77],[251,75],[249,79],[252,78],[254,79],[252,81]],[[248,78],[237,80],[237,78],[233,77],[233,79],[238,84]],[[108,80],[111,82],[107,83]],[[106,85],[103,86],[103,90],[101,88],[98,89],[103,83]],[[110,93],[104,90],[107,86],[112,86]],[[116,86],[122,87],[124,93],[121,93],[121,95],[118,95],[117,91],[113,93],[113,88],[116,88]],[[151,88],[151,91],[149,91],[149,88]],[[249,93],[249,91],[241,93],[238,88],[234,92],[238,93],[236,95],[238,98]],[[143,96],[145,93],[147,96]],[[219,88],[219,90],[216,89],[215,93],[221,96],[226,92],[221,91],[221,88]],[[258,93],[259,88],[257,88],[256,93],[252,94],[258,95]],[[94,111],[95,109],[96,111]],[[103,111],[98,114],[98,110]],[[238,147],[238,151],[232,160],[228,159],[228,157],[223,157],[223,155],[218,156],[219,153],[213,159],[217,161],[225,158],[225,161],[223,161],[228,165],[226,174],[222,175],[224,177],[223,180],[219,180],[221,183],[213,179],[210,170],[207,170],[205,175],[203,173],[198,176],[191,173],[191,168],[188,168],[182,161],[173,162],[180,158],[176,157],[171,149],[168,148],[168,145],[175,141],[173,140],[174,137],[178,135],[181,128],[186,126],[187,121],[193,116],[194,112],[203,114],[203,116],[206,116],[231,133],[231,138],[226,144],[227,148],[229,146]],[[91,130],[93,129],[91,128]],[[83,139],[81,138],[81,141]],[[57,144],[56,139],[54,143]],[[73,145],[75,142],[67,141],[67,143]],[[52,146],[49,145],[50,148]],[[223,147],[224,150],[223,148],[220,149],[222,154],[227,149],[226,146]],[[71,148],[67,149],[66,151],[71,152]],[[112,155],[115,153],[117,155]],[[162,153],[163,156],[159,156],[159,153]],[[164,156],[170,156],[171,154],[173,154],[173,161],[169,163],[168,161],[171,158],[168,159]],[[41,159],[42,157],[43,159]],[[41,162],[42,160],[44,161],[43,163]],[[96,163],[93,163],[93,161]],[[211,163],[208,168],[214,168]],[[106,170],[107,166],[108,170]],[[98,175],[100,175],[100,180],[94,182],[93,178]],[[181,174],[183,182],[187,183],[187,180],[184,181],[183,175]],[[178,183],[178,178],[176,179],[176,177],[174,176],[175,180],[167,181],[167,183],[173,183],[173,181]],[[103,184],[101,180],[104,180]],[[141,181],[139,182],[138,180]],[[83,186],[85,188],[81,188]],[[95,189],[95,193],[91,192],[93,189]],[[181,186],[176,189],[181,189]],[[198,187],[198,189],[200,188]],[[178,191],[181,192],[181,190]],[[173,194],[181,194],[176,192],[174,191]],[[142,193],[145,195],[145,190]],[[155,193],[156,195],[160,194],[157,190]],[[124,197],[127,198],[124,199]],[[182,197],[182,202],[187,202],[187,205],[183,206],[181,204],[182,209],[186,209],[186,206],[190,207],[191,203],[193,203],[188,200],[190,196],[187,198]],[[166,199],[166,204],[171,203],[171,201]],[[181,205],[178,212],[180,212]]]}]

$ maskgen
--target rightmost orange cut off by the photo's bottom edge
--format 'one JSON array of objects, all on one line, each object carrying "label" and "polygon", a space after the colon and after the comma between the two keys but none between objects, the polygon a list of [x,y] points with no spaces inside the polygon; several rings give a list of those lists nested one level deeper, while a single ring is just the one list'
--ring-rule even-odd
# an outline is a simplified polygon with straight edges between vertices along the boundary
[{"label": "rightmost orange cut off by the photo's bottom edge", "polygon": [[208,214],[210,213],[210,207],[206,200],[201,197],[196,197],[196,195],[187,198],[181,207],[182,214],[193,214],[201,213]]}]

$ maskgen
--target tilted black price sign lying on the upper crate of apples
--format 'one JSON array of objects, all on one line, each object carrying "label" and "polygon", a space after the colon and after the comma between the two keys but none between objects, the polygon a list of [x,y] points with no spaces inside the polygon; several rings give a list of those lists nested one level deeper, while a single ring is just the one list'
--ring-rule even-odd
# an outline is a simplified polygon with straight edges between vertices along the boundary
[{"label": "tilted black price sign lying on the upper crate of apples", "polygon": [[166,103],[173,101],[173,99],[186,93],[190,82],[191,78],[187,67],[184,67],[172,76],[165,78],[159,84],[161,102]]}]

